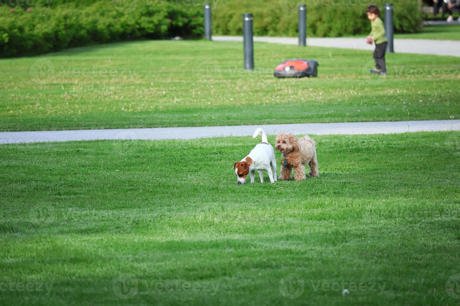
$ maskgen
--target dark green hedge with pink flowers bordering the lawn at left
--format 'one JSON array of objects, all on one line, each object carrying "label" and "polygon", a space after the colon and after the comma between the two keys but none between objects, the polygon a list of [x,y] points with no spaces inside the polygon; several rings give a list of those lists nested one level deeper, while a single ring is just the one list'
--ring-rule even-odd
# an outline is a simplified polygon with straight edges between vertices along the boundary
[{"label": "dark green hedge with pink flowers bordering the lawn at left", "polygon": [[[108,1],[90,6],[0,7],[1,56],[34,55],[69,47],[135,38],[201,37],[201,6],[146,5],[124,13]],[[118,9],[118,10],[117,10]],[[11,11],[13,10],[13,11]]]}]

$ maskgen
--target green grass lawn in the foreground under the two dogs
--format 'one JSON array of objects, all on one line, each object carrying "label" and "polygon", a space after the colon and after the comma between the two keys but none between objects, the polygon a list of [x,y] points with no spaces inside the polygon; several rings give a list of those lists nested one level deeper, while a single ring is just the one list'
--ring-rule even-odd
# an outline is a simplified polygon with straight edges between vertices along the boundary
[{"label": "green grass lawn in the foreground under the two dogs", "polygon": [[0,304],[458,305],[460,133],[313,138],[244,185],[249,137],[0,145]]}]

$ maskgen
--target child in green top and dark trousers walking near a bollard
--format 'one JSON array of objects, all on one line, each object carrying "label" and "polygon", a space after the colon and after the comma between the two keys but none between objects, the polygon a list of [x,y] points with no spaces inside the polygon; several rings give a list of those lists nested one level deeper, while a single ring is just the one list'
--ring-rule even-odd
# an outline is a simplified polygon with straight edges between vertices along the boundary
[{"label": "child in green top and dark trousers walking near a bollard", "polygon": [[370,72],[386,76],[385,49],[388,43],[383,22],[379,18],[380,11],[377,6],[371,5],[366,9],[366,13],[368,14],[368,19],[371,21],[371,33],[369,33],[366,41],[369,45],[372,45],[372,41],[375,42],[375,50],[373,53],[375,70],[373,69]]}]

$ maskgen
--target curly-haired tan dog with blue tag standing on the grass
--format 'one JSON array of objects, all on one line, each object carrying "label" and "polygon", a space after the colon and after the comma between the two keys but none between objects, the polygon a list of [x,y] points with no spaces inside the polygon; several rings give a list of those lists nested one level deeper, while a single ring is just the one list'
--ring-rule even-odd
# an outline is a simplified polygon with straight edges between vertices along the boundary
[{"label": "curly-haired tan dog with blue tag standing on the grass", "polygon": [[318,173],[318,161],[316,160],[316,142],[305,135],[300,139],[291,133],[280,133],[275,139],[276,150],[282,153],[280,179],[291,178],[294,168],[294,179],[305,179],[305,165],[308,164],[310,172],[308,176],[316,177]]}]

